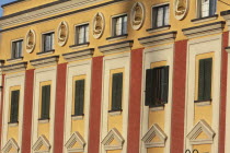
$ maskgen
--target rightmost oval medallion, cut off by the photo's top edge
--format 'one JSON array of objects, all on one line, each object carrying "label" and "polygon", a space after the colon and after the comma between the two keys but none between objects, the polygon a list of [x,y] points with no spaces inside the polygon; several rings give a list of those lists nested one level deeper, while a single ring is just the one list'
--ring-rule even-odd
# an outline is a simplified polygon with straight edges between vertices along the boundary
[{"label": "rightmost oval medallion, cut off by the photo's top edge", "polygon": [[174,0],[174,15],[177,20],[183,20],[188,11],[188,0]]}]

